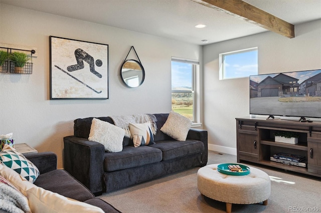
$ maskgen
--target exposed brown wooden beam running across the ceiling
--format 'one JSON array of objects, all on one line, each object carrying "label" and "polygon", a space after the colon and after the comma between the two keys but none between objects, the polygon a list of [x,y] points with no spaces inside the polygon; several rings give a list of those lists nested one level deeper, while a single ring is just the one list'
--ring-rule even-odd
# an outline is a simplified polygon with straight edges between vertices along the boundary
[{"label": "exposed brown wooden beam running across the ceiling", "polygon": [[294,25],[242,0],[192,0],[289,38]]}]

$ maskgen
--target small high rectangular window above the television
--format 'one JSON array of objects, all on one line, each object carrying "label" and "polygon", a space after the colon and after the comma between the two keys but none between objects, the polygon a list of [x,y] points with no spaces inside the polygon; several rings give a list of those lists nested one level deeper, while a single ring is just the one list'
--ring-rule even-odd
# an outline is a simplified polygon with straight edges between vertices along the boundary
[{"label": "small high rectangular window above the television", "polygon": [[221,53],[220,80],[258,74],[257,47]]}]

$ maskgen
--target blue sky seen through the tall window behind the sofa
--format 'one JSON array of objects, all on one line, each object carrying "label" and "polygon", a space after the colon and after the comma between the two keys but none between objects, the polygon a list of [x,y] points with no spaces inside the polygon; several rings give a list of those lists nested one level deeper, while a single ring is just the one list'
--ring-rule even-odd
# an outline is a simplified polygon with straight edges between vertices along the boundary
[{"label": "blue sky seen through the tall window behind the sofa", "polygon": [[192,88],[192,65],[191,63],[172,61],[172,88]]}]

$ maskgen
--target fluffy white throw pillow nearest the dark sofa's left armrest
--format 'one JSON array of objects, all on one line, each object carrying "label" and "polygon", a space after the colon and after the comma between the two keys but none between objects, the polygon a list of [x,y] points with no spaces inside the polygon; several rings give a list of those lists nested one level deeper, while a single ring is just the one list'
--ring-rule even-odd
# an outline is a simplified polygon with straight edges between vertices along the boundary
[{"label": "fluffy white throw pillow nearest the dark sofa's left armrest", "polygon": [[88,139],[103,144],[106,151],[121,151],[124,136],[124,129],[97,118],[92,119]]}]

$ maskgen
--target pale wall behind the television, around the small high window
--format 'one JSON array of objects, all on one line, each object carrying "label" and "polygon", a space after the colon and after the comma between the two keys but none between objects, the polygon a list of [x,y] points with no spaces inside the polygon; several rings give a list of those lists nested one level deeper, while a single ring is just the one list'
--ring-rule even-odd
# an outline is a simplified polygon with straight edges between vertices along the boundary
[{"label": "pale wall behind the television, around the small high window", "polygon": [[249,79],[219,80],[219,54],[258,47],[259,74],[321,68],[321,20],[295,25],[295,37],[264,32],[203,49],[204,128],[209,148],[236,154],[236,117],[249,116]]}]

